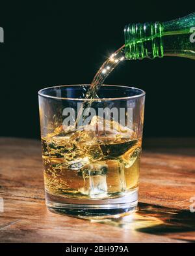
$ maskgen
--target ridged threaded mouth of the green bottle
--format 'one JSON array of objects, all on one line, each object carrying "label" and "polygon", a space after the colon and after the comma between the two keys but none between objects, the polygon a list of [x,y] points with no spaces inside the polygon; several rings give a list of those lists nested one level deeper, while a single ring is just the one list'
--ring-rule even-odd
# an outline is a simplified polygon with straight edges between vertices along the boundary
[{"label": "ridged threaded mouth of the green bottle", "polygon": [[129,24],[125,26],[125,57],[143,59],[163,57],[163,26],[160,22]]}]

